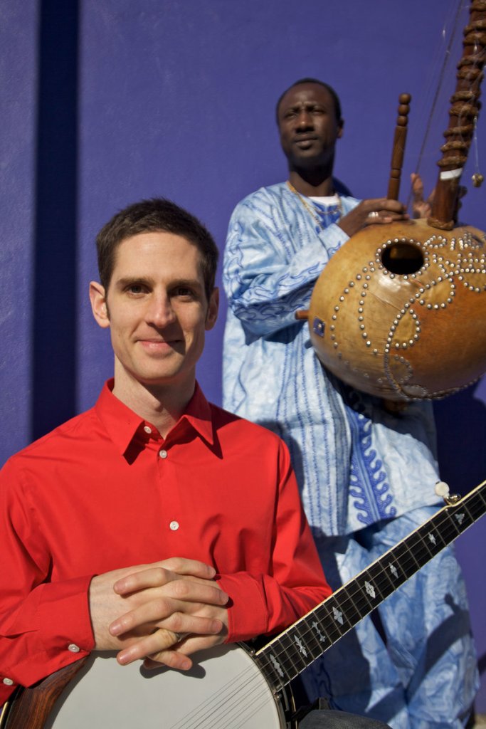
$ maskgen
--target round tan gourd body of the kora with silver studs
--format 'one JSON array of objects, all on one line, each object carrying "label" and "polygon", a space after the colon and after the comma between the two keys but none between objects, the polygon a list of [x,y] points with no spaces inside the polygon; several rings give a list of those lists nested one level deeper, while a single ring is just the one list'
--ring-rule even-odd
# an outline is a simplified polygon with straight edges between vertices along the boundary
[{"label": "round tan gourd body of the kora with silver studs", "polygon": [[322,364],[356,389],[452,394],[486,370],[486,235],[425,219],[369,226],[324,268],[308,321]]}]

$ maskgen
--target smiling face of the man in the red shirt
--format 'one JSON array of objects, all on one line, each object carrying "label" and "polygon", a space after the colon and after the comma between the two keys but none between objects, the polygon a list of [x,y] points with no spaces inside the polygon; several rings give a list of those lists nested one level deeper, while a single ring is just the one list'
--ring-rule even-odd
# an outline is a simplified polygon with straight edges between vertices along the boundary
[{"label": "smiling face of the man in the red shirt", "polygon": [[140,233],[119,244],[108,292],[91,284],[95,319],[110,327],[117,391],[130,381],[184,386],[195,377],[218,292],[205,296],[200,252],[172,233]]}]

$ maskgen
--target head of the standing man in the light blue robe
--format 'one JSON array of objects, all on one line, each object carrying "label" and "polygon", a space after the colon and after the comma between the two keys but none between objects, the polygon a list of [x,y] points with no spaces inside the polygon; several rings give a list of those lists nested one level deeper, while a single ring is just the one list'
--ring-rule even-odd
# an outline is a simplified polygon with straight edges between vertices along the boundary
[{"label": "head of the standing man in the light blue robe", "polygon": [[342,122],[336,118],[329,91],[308,83],[292,87],[283,97],[278,107],[278,129],[291,168],[302,168],[332,163]]}]

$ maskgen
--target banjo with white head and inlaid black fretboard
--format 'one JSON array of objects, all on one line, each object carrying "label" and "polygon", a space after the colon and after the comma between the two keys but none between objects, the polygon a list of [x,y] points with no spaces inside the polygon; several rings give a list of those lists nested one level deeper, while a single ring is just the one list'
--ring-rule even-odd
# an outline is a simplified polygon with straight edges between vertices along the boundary
[{"label": "banjo with white head and inlaid black fretboard", "polygon": [[[2,729],[285,729],[285,687],[486,512],[486,481],[408,537],[256,652],[202,651],[190,671],[92,653],[5,704]],[[75,674],[73,676],[73,674]]]}]

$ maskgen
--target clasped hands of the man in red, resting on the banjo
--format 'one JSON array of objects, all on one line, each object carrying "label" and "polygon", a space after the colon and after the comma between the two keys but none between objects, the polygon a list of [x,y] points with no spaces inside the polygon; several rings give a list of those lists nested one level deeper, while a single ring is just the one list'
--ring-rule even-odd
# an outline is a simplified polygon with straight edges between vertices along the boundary
[{"label": "clasped hands of the man in red, resting on the banjo", "polygon": [[228,596],[213,567],[171,558],[93,577],[89,601],[95,650],[117,650],[119,663],[146,659],[187,670],[189,654],[224,642]]}]

